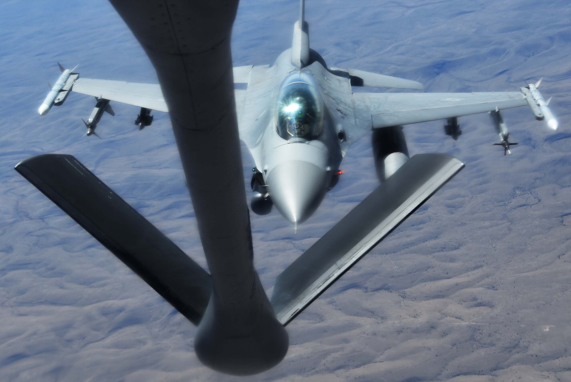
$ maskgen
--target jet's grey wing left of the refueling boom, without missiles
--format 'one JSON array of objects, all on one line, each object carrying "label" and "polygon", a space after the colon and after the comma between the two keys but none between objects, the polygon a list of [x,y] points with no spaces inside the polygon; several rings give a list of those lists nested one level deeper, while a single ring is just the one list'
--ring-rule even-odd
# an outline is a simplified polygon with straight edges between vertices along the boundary
[{"label": "jet's grey wing left of the refueling boom, without missiles", "polygon": [[78,78],[71,90],[111,101],[168,112],[163,92],[158,84]]}]

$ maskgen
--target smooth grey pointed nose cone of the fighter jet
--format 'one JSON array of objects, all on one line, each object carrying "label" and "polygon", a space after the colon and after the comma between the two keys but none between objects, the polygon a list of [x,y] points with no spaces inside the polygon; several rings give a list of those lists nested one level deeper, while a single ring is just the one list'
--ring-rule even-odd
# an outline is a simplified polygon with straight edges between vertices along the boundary
[{"label": "smooth grey pointed nose cone of the fighter jet", "polygon": [[272,202],[292,223],[301,223],[315,212],[327,192],[326,183],[327,173],[305,161],[279,164],[267,177]]}]

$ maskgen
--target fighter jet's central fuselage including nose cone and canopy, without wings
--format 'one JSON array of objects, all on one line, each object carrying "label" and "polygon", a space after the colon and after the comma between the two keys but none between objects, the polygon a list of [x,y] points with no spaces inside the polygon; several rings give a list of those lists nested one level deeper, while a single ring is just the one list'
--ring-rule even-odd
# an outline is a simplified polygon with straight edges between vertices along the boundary
[{"label": "fighter jet's central fuselage including nose cone and canopy, without wings", "polygon": [[256,121],[265,125],[256,165],[271,201],[296,225],[315,212],[335,184],[343,155],[336,131],[339,123],[318,80],[308,68],[293,67],[290,55],[285,51],[276,60],[279,86]]}]

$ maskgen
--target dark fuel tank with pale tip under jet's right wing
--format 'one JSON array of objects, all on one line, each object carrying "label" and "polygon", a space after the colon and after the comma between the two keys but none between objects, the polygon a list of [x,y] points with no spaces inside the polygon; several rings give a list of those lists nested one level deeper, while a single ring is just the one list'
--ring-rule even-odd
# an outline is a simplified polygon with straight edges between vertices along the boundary
[{"label": "dark fuel tank with pale tip under jet's right wing", "polygon": [[394,174],[409,159],[402,126],[374,129],[372,145],[377,177],[381,182]]}]

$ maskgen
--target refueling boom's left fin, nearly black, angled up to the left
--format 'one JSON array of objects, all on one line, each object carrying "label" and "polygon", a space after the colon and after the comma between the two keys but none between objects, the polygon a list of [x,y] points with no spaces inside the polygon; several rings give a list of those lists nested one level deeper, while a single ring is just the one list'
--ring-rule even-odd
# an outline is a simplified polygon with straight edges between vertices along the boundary
[{"label": "refueling boom's left fin, nearly black, angled up to the left", "polygon": [[77,159],[44,154],[15,169],[188,320],[200,322],[210,275]]}]

